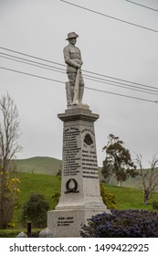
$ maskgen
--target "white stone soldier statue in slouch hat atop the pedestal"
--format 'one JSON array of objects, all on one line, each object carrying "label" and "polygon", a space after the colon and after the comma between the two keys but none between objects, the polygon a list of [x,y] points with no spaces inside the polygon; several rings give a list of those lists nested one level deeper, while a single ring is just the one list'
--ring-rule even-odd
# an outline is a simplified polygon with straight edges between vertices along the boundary
[{"label": "white stone soldier statue in slouch hat atop the pedestal", "polygon": [[[66,83],[68,105],[81,104],[84,91],[84,81],[80,70],[83,61],[79,48],[75,47],[77,37],[79,36],[75,32],[68,33],[68,38],[66,39],[68,40],[68,46],[63,49],[69,80]],[[79,90],[76,101],[74,102],[75,82],[79,83]]]}]

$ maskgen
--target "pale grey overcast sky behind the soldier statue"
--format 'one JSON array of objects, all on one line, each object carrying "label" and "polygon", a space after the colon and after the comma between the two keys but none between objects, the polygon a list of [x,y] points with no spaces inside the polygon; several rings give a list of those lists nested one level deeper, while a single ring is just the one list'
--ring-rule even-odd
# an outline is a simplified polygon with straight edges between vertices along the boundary
[{"label": "pale grey overcast sky behind the soldier statue", "polygon": [[[156,0],[133,1],[158,10]],[[128,83],[128,86],[127,83],[117,83],[114,86],[85,78],[88,88],[149,101],[90,89],[85,89],[83,99],[92,112],[100,114],[95,123],[99,165],[105,157],[102,147],[107,144],[109,133],[121,138],[133,159],[135,153],[142,154],[143,163],[147,165],[158,153],[158,103],[150,102],[158,101],[158,12],[125,0],[68,2],[106,16],[59,0],[0,0],[0,52],[28,59],[2,49],[7,48],[65,64],[63,48],[68,44],[66,38],[68,32],[75,31],[79,34],[77,46],[84,62],[82,69],[119,79],[115,80],[117,82],[129,80],[149,86],[133,83]],[[17,158],[38,155],[61,159],[63,123],[58,119],[58,113],[65,112],[67,108],[66,93],[64,83],[53,80],[66,82],[66,72],[42,69],[2,57],[13,58],[0,54],[0,67],[51,79],[0,69],[0,94],[9,93],[20,115],[22,136],[19,144],[23,146],[23,151]],[[29,59],[64,68],[39,59]],[[147,89],[150,94],[129,88]]]}]

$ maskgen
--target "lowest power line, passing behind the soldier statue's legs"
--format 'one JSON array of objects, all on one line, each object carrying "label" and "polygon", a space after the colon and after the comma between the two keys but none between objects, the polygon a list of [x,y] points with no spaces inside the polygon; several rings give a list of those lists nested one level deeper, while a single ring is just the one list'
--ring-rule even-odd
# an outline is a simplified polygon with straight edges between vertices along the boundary
[{"label": "lowest power line, passing behind the soldier statue's legs", "polygon": [[[19,70],[16,70],[16,69],[7,69],[5,67],[0,67],[0,69],[5,69],[7,71],[12,71],[12,72],[20,73],[20,74],[31,76],[31,77],[35,77],[35,78],[38,78],[38,79],[51,80],[51,81],[55,81],[55,82],[59,82],[59,83],[65,84],[65,82],[61,81],[61,80],[53,80],[53,79],[49,79],[49,78],[46,78],[46,77],[37,76],[37,75],[31,74],[31,73],[19,71]],[[115,93],[115,92],[111,92],[111,91],[103,91],[103,90],[94,89],[94,88],[90,88],[90,87],[85,87],[85,88],[88,89],[88,90],[91,90],[91,91],[100,91],[100,92],[108,93],[108,94],[111,94],[111,95],[121,96],[121,97],[130,98],[130,99],[134,99],[134,100],[158,103],[158,101],[152,101],[152,100],[148,100],[148,99],[144,99],[144,98],[132,97],[132,96],[121,94],[121,93]]]}]

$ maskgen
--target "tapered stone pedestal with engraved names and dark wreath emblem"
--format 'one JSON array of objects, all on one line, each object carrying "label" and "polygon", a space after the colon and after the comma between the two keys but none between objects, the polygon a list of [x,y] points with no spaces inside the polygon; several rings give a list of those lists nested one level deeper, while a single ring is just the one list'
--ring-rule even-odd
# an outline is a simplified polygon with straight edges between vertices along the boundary
[{"label": "tapered stone pedestal with engraved names and dark wreath emblem", "polygon": [[64,123],[61,197],[47,212],[54,237],[79,237],[81,226],[98,213],[110,212],[100,197],[94,122],[99,115],[86,105],[58,114]]}]

